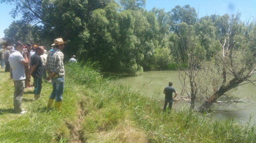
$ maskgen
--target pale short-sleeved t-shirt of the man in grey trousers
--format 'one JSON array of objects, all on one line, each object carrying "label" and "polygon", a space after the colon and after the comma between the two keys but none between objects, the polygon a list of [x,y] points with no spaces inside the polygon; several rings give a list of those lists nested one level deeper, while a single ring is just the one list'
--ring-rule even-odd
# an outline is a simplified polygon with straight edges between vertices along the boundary
[{"label": "pale short-sleeved t-shirt of the man in grey trousers", "polygon": [[13,51],[9,56],[10,67],[13,73],[13,80],[26,79],[24,65],[21,63],[23,56],[19,51]]}]

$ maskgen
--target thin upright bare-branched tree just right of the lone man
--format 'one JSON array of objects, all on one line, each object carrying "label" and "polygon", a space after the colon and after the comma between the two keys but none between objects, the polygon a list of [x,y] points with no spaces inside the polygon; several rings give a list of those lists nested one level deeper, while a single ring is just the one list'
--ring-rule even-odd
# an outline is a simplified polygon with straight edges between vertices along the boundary
[{"label": "thin upright bare-branched tree just right of the lone man", "polygon": [[[186,25],[186,24],[185,24]],[[182,63],[178,64],[179,68],[179,77],[183,86],[183,89],[181,91],[181,95],[187,94],[190,98],[190,110],[194,110],[195,108],[195,101],[196,97],[198,95],[199,91],[199,83],[196,81],[196,78],[198,78],[198,72],[199,72],[199,65],[204,60],[205,51],[200,46],[198,37],[196,37],[195,29],[198,28],[198,25],[196,27],[193,27],[192,25],[189,25],[184,29],[184,32],[186,32],[185,35],[188,35],[187,41],[188,49],[186,49],[184,52],[187,56],[187,67],[184,67]],[[187,80],[187,77],[189,81]],[[189,84],[189,87],[187,86]]]}]

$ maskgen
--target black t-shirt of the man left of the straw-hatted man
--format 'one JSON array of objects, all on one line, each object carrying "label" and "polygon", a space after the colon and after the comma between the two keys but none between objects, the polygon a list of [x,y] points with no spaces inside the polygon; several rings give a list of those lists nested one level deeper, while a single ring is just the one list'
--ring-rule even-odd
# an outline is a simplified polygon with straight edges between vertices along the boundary
[{"label": "black t-shirt of the man left of the straw-hatted man", "polygon": [[37,65],[36,70],[32,73],[33,77],[42,78],[44,76],[44,64],[41,57],[38,54],[33,54],[31,56],[31,68],[33,65]]}]

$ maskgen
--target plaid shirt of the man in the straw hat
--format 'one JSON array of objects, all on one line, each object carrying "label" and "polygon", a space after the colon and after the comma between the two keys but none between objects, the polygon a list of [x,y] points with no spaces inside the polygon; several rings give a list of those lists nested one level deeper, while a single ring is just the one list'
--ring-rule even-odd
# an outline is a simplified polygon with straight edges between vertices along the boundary
[{"label": "plaid shirt of the man in the straw hat", "polygon": [[46,70],[50,70],[50,72],[55,72],[58,76],[64,76],[64,64],[63,64],[64,54],[60,49],[54,48],[47,55]]}]

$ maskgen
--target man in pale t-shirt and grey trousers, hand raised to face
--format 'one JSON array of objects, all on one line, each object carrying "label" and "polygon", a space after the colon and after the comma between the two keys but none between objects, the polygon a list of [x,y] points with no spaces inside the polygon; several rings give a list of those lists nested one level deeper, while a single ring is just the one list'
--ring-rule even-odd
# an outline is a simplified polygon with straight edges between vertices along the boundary
[{"label": "man in pale t-shirt and grey trousers, hand raised to face", "polygon": [[[21,100],[25,88],[25,71],[24,65],[28,66],[27,49],[23,51],[23,44],[18,41],[15,44],[15,50],[9,56],[10,62],[10,79],[13,79],[14,83],[14,94],[13,94],[13,105],[14,111],[18,114],[24,114],[26,111],[21,109]],[[24,52],[24,57],[22,56],[22,51]]]}]

